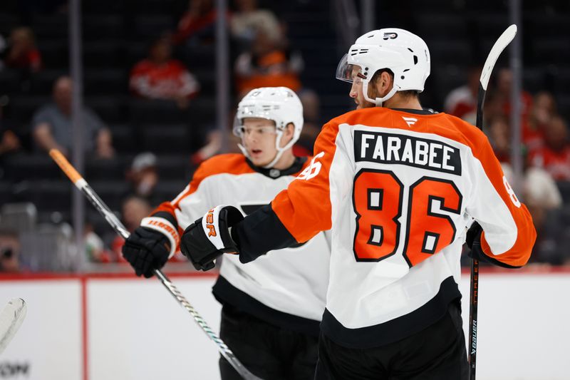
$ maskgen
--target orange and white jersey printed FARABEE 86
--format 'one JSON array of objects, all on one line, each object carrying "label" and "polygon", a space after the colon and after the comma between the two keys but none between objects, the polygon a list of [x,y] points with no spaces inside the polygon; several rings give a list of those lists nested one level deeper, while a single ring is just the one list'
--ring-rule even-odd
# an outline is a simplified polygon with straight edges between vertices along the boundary
[{"label": "orange and white jersey printed FARABEE 86", "polygon": [[[311,165],[268,209],[234,227],[242,261],[331,229],[321,330],[355,348],[414,334],[461,297],[460,254],[473,219],[485,255],[500,265],[524,265],[536,238],[485,135],[428,111],[365,108],[334,118]],[[281,241],[259,238],[269,231]]]}]

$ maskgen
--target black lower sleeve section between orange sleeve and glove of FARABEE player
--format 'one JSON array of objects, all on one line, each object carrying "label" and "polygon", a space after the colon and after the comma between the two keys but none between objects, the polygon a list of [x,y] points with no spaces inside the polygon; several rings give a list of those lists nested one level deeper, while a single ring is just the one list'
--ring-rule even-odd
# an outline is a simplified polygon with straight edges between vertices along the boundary
[{"label": "black lower sleeve section between orange sleeve and glove of FARABEE player", "polygon": [[259,207],[232,228],[232,239],[239,248],[239,261],[253,261],[272,250],[281,250],[297,244],[271,208]]}]

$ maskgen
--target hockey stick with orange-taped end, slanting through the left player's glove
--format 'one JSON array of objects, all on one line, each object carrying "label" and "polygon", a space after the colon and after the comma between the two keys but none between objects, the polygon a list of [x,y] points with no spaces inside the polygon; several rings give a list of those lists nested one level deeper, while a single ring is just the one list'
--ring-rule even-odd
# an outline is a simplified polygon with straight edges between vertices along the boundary
[{"label": "hockey stick with orange-taped end, slanting through the left player's glove", "polygon": [[[115,230],[115,232],[117,232],[125,240],[128,239],[130,233],[125,228],[123,223],[121,223],[120,220],[118,220],[118,217],[116,217],[115,214],[109,210],[109,207],[105,205],[105,202],[100,199],[95,191],[93,191],[93,189],[89,186],[87,181],[83,179],[83,177],[77,172],[75,168],[73,168],[67,158],[65,158],[57,149],[50,150],[49,155],[51,155],[51,158],[56,161],[61,170],[63,170],[63,173],[66,173],[73,185],[76,185],[76,188],[78,188],[79,191],[83,192],[83,195],[85,195],[91,204],[95,206],[98,212],[100,212],[100,214],[105,217],[105,220],[107,220],[111,227],[113,227],[113,230]],[[187,299],[182,295],[180,290],[178,290],[178,288],[175,287],[172,282],[170,282],[170,279],[168,279],[168,277],[166,277],[166,275],[163,274],[160,269],[155,269],[155,275],[158,277],[158,279],[160,279],[168,292],[172,294],[172,297],[175,297],[178,303],[192,315],[192,318],[194,318],[200,329],[206,333],[209,339],[212,339],[212,341],[214,341],[214,343],[217,345],[219,353],[222,354],[224,358],[226,358],[229,364],[232,364],[234,369],[240,376],[242,376],[242,378],[246,380],[262,380],[244,367],[244,365],[234,355],[232,350],[229,349],[224,341],[222,341],[222,339],[217,336],[217,334],[209,327],[207,322],[204,321],[202,316],[198,314],[190,302],[188,302]]]}]

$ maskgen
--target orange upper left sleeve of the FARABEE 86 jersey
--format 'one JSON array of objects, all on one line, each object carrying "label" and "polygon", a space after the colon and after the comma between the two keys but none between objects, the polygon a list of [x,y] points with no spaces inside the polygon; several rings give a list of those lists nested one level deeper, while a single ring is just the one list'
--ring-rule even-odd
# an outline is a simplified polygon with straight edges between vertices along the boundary
[{"label": "orange upper left sleeve of the FARABEE 86 jersey", "polygon": [[318,232],[331,229],[329,175],[337,134],[338,124],[323,126],[311,163],[271,202],[271,209],[297,242],[306,242]]}]

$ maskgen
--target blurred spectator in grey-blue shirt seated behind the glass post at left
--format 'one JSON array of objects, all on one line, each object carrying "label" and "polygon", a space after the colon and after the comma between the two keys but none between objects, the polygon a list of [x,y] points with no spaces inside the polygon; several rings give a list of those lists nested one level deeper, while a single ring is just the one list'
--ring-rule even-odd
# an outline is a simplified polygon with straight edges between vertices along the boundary
[{"label": "blurred spectator in grey-blue shirt seated behind the glass post at left", "polygon": [[[58,148],[64,155],[71,152],[71,89],[71,78],[58,78],[53,85],[53,103],[43,106],[33,115],[33,139],[42,150]],[[81,118],[85,151],[97,158],[112,158],[115,151],[110,130],[90,108],[84,106]]]}]

